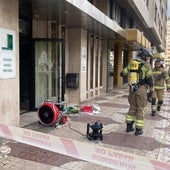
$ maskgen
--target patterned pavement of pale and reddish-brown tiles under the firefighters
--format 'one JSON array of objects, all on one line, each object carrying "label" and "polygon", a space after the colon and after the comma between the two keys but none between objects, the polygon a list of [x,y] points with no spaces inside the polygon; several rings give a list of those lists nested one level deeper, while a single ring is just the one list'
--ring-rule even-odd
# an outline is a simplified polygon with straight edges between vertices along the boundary
[{"label": "patterned pavement of pale and reddish-brown tiles under the firefighters", "polygon": [[[93,115],[69,114],[68,122],[56,128],[39,124],[36,112],[22,114],[20,125],[22,128],[170,163],[170,94],[165,94],[162,110],[155,117],[151,116],[150,103],[148,103],[144,134],[141,136],[134,136],[134,132],[125,133],[125,115],[129,108],[127,96],[127,88],[115,89],[106,96],[84,102],[82,105],[99,106],[101,113]],[[87,123],[93,124],[97,120],[100,120],[104,126],[103,141],[89,141],[86,138]],[[3,138],[1,138],[1,143],[3,147],[0,150],[9,152],[5,158],[0,160],[0,167],[4,169],[110,169]]]}]

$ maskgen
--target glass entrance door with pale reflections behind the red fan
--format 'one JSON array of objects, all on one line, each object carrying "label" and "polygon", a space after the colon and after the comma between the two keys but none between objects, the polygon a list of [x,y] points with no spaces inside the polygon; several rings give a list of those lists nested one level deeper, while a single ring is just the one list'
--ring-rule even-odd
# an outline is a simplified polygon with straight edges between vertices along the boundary
[{"label": "glass entrance door with pale reflections behind the red fan", "polygon": [[64,100],[65,67],[63,42],[35,40],[35,108],[44,100]]}]

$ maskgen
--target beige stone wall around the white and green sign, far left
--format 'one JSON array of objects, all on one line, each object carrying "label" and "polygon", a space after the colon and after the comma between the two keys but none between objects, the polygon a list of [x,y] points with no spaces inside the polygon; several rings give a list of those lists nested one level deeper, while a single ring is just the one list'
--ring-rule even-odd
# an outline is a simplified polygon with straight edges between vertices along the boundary
[{"label": "beige stone wall around the white and green sign, far left", "polygon": [[18,0],[0,0],[0,28],[15,32],[16,77],[0,79],[0,121],[19,125],[19,29]]}]

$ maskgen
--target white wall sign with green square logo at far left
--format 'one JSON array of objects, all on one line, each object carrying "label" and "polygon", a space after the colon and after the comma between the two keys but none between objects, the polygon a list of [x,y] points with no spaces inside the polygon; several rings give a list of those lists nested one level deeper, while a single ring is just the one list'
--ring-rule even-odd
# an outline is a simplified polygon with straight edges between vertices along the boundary
[{"label": "white wall sign with green square logo at far left", "polygon": [[0,79],[15,78],[15,32],[0,28]]}]

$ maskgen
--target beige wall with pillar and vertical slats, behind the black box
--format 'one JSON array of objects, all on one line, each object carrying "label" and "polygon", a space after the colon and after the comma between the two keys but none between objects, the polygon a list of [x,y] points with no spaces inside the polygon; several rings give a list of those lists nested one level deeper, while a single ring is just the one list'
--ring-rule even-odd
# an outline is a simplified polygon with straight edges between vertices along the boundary
[{"label": "beige wall with pillar and vertical slats, behind the black box", "polygon": [[77,104],[106,92],[107,41],[92,37],[83,29],[66,30],[66,74],[79,73],[79,88],[66,87],[68,103]]}]

